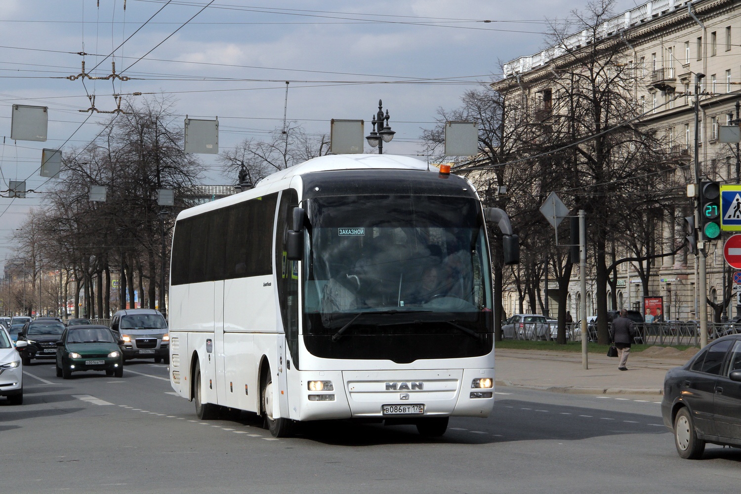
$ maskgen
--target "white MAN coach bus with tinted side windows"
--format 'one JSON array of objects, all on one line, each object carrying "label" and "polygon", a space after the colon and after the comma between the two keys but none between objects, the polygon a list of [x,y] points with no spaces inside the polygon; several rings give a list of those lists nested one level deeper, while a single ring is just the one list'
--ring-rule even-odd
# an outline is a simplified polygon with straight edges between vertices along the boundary
[{"label": "white MAN coach bus with tinted side windows", "polygon": [[[182,211],[170,270],[173,389],[195,400],[199,418],[247,410],[278,437],[294,421],[358,418],[442,435],[450,416],[488,416],[485,218],[512,233],[467,179],[388,155],[314,158]],[[516,249],[516,236],[505,244]]]}]

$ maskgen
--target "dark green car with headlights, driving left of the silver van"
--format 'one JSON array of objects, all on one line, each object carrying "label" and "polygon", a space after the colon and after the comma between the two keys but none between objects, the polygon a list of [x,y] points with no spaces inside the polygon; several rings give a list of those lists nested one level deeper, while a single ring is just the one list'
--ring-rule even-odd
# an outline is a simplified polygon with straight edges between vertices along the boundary
[{"label": "dark green car with headlights, driving left of the silver van", "polygon": [[70,326],[56,342],[56,376],[69,379],[81,370],[104,370],[106,375],[124,376],[119,341],[108,327]]}]

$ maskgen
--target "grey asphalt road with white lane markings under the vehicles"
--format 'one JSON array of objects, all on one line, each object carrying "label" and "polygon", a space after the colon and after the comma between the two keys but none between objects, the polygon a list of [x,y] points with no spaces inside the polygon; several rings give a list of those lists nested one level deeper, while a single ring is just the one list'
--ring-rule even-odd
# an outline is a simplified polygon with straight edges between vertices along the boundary
[{"label": "grey asphalt road with white lane markings under the vehicles", "polygon": [[453,418],[442,438],[328,422],[276,439],[247,413],[199,421],[162,364],[24,370],[24,404],[0,398],[2,493],[726,494],[741,480],[741,450],[679,458],[659,397],[499,387],[491,417]]}]

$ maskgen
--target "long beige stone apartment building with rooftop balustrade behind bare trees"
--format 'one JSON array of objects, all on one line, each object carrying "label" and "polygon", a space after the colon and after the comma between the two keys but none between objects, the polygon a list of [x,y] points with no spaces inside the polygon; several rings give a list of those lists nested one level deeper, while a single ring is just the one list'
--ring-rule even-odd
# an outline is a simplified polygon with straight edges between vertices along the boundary
[{"label": "long beige stone apartment building with rooftop balustrade behind bare trees", "polygon": [[[598,25],[599,43],[619,47],[625,63],[632,64],[634,85],[626,99],[642,113],[665,143],[665,153],[676,163],[674,173],[685,183],[694,182],[694,85],[697,73],[705,74],[700,87],[700,175],[734,184],[739,181],[735,145],[721,143],[720,126],[731,124],[741,99],[741,2],[737,0],[652,0]],[[554,47],[504,64],[504,77],[492,84],[505,94],[520,94],[534,114],[547,119],[554,109],[551,84],[559,68],[574,60],[574,53],[588,49],[594,31],[571,34]],[[682,216],[664,218],[657,235],[682,238]],[[678,221],[679,219],[679,221]],[[709,244],[707,252],[708,298],[720,301],[724,293],[722,242]],[[691,253],[678,253],[654,261],[655,276],[648,283],[650,296],[662,296],[665,319],[689,320],[696,314],[696,260]],[[578,276],[575,273],[574,276]],[[597,313],[594,281],[588,282],[587,315]],[[551,293],[556,288],[551,284]],[[619,266],[617,307],[639,308],[642,281],[630,264]],[[730,290],[731,287],[725,287]],[[506,288],[505,288],[506,290]],[[730,292],[728,292],[730,293]],[[519,311],[516,290],[504,294],[507,313]],[[551,297],[549,297],[551,298]],[[572,280],[567,309],[579,313],[579,283]],[[735,301],[728,316],[734,316]],[[549,301],[551,315],[556,301]],[[531,310],[537,308],[531,307]]]}]

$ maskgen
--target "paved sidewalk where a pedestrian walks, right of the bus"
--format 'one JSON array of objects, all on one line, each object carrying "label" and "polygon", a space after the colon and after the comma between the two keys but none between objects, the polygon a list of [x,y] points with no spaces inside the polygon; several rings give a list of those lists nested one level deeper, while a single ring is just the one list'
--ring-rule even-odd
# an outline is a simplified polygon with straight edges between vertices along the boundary
[{"label": "paved sidewalk where a pedestrian walks, right of the bus", "polygon": [[617,358],[590,353],[589,369],[582,369],[581,353],[538,350],[496,350],[495,384],[557,393],[650,394],[663,393],[664,375],[686,358],[631,354],[628,371],[617,369]]}]

